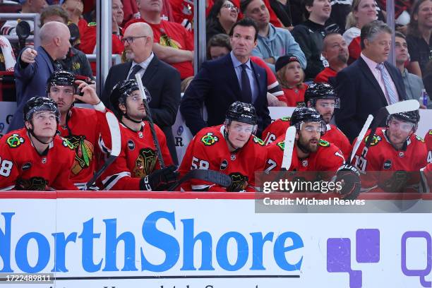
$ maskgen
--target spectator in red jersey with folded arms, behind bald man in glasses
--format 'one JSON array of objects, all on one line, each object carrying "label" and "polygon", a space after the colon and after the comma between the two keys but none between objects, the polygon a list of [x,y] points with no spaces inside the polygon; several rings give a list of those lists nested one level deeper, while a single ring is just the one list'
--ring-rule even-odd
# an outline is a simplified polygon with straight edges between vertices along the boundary
[{"label": "spectator in red jersey with folded arms, behind bald man in glasses", "polygon": [[160,60],[176,68],[181,79],[193,76],[193,38],[190,32],[179,23],[162,20],[162,0],[139,0],[140,19],[126,23],[145,22],[153,30],[153,52]]}]

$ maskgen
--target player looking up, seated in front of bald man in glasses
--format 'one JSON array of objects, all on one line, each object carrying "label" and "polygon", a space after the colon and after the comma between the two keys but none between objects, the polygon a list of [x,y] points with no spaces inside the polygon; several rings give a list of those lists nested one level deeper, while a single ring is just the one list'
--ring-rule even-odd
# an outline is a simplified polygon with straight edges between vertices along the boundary
[{"label": "player looking up, seated in front of bald man in glasses", "polygon": [[[176,167],[173,166],[169,155],[165,135],[155,125],[164,164],[167,165],[163,169],[160,167],[150,124],[148,121],[143,121],[146,116],[144,100],[137,81],[123,80],[115,85],[109,100],[114,114],[120,121],[121,152],[101,176],[104,188],[136,191],[166,190],[176,181]],[[101,141],[102,150],[110,147],[110,141],[110,138]]]}]

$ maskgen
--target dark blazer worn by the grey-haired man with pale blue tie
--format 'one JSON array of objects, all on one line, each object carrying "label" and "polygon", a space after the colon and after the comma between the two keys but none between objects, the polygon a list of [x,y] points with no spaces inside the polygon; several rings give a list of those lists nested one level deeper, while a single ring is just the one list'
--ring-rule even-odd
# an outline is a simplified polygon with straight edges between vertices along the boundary
[{"label": "dark blazer worn by the grey-haired man with pale blue tie", "polygon": [[[400,71],[387,62],[384,64],[395,83],[400,101],[407,100]],[[335,110],[336,124],[352,142],[359,136],[368,114],[375,117],[378,109],[387,106],[388,102],[378,81],[361,57],[337,73],[335,86],[341,106]]]}]

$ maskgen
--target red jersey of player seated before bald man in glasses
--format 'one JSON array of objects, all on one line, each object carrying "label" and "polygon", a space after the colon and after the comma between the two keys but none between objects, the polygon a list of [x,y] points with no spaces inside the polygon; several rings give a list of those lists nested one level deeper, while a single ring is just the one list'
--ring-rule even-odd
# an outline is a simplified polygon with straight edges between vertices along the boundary
[{"label": "red jersey of player seated before bald man in glasses", "polygon": [[[102,184],[106,190],[140,190],[140,179],[160,169],[157,150],[153,142],[150,124],[143,121],[140,131],[133,131],[120,124],[121,152],[119,157],[102,174]],[[162,130],[155,125],[157,140],[162,150],[164,164],[172,165],[172,158],[167,148],[167,140]],[[102,133],[100,148],[109,150],[111,138]]]}]

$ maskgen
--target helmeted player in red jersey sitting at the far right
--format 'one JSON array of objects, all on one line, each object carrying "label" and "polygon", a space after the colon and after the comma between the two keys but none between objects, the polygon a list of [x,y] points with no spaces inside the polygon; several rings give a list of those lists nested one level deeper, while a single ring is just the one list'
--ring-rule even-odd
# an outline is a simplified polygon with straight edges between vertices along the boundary
[{"label": "helmeted player in red jersey sitting at the far right", "polygon": [[426,166],[426,145],[416,136],[419,111],[391,114],[386,128],[378,128],[359,146],[353,164],[361,170],[361,188],[371,192],[418,191],[419,170]]}]

